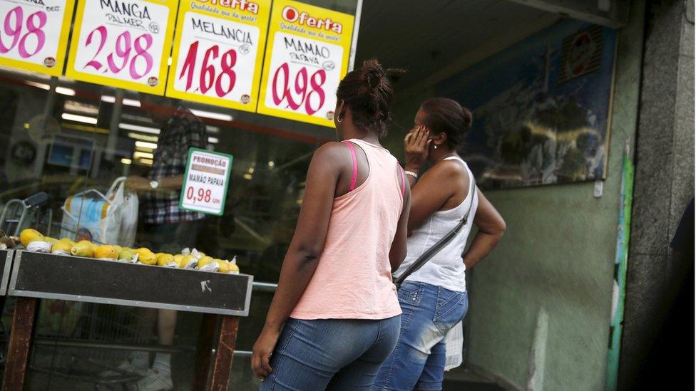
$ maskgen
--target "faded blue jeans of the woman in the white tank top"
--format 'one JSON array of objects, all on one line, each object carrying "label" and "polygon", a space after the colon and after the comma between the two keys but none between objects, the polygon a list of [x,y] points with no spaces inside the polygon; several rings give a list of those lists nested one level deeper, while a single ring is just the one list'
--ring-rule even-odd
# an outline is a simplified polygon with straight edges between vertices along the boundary
[{"label": "faded blue jeans of the woman in the white tank top", "polygon": [[399,288],[401,333],[373,390],[442,390],[445,336],[466,315],[466,292],[406,281]]}]

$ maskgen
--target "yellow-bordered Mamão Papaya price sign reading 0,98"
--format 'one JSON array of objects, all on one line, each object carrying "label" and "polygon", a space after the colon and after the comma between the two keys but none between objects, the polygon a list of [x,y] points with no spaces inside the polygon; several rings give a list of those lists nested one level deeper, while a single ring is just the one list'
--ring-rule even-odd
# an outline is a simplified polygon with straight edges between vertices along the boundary
[{"label": "yellow-bordered Mam\u00e3o Papaya price sign reading 0,98", "polygon": [[257,112],[333,127],[353,23],[342,12],[274,1]]}]

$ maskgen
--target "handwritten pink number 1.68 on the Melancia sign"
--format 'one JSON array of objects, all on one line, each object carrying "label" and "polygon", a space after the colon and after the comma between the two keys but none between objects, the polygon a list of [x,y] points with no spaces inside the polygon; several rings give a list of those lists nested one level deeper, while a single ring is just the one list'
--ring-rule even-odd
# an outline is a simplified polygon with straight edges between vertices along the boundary
[{"label": "handwritten pink number 1.68 on the Melancia sign", "polygon": [[[220,58],[220,73],[216,75],[215,66],[211,64],[213,60]],[[184,60],[183,67],[179,73],[179,80],[186,78],[186,91],[193,86],[193,76],[196,72],[196,62],[198,61],[198,41],[195,41],[188,46],[188,53]],[[237,63],[237,51],[230,49],[220,56],[220,47],[218,45],[210,46],[203,54],[203,63],[198,69],[198,88],[203,95],[208,93],[208,90],[215,84],[215,95],[222,98],[232,92],[237,82],[237,73],[232,70]]]}]

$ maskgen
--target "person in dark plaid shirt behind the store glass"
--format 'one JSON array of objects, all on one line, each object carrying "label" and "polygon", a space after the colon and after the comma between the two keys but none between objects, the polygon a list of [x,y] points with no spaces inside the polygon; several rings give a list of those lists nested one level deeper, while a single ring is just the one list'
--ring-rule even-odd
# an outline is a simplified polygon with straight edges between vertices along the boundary
[{"label": "person in dark plaid shirt behind the store glass", "polygon": [[[205,122],[180,105],[178,100],[141,94],[140,107],[160,126],[160,135],[147,177],[128,177],[126,187],[144,193],[141,210],[145,230],[153,239],[152,250],[178,254],[185,247],[195,247],[205,217],[199,212],[179,209],[188,150],[191,147],[208,147]],[[150,338],[155,316],[159,343],[172,345],[176,311],[141,309],[136,332],[142,338]],[[172,390],[170,363],[170,353],[157,353],[150,369],[148,353],[133,352],[130,360],[119,368],[143,375],[138,382],[138,390]]]}]

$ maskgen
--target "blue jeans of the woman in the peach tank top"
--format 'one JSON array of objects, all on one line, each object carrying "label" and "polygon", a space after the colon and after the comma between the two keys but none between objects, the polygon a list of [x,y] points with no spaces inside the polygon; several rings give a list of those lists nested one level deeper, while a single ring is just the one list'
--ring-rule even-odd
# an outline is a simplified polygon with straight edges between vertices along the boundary
[{"label": "blue jeans of the woman in the peach tank top", "polygon": [[260,390],[370,390],[399,338],[401,316],[285,323]]}]

